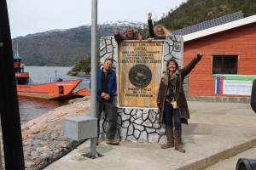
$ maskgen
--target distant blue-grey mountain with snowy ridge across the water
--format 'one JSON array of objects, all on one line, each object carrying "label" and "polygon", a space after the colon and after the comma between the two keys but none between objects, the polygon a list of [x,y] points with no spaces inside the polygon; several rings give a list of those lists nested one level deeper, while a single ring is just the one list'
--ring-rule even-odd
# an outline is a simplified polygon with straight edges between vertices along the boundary
[{"label": "distant blue-grey mountain with snowy ridge across the water", "polygon": [[[143,23],[133,22],[99,25],[97,31],[98,45],[100,37],[112,36],[117,27],[122,32],[128,25],[137,29],[145,26]],[[18,42],[18,52],[23,57],[25,65],[72,66],[78,63],[80,59],[90,56],[90,40],[90,26],[79,26],[68,30],[45,31],[26,37],[16,37],[12,42],[13,47]]]}]

